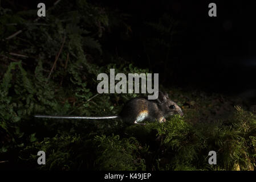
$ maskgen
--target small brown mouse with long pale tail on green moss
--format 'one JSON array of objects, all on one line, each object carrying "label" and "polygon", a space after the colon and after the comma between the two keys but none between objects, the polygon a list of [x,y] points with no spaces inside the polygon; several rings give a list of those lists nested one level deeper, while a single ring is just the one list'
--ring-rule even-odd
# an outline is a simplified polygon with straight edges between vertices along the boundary
[{"label": "small brown mouse with long pale tail on green moss", "polygon": [[182,113],[181,108],[172,100],[168,94],[159,91],[156,100],[148,100],[147,97],[135,97],[127,101],[119,115],[107,117],[79,117],[79,116],[54,116],[54,115],[34,115],[36,118],[58,118],[58,119],[113,119],[120,118],[123,122],[130,124],[145,125],[143,121],[165,122],[166,117],[173,114]]}]

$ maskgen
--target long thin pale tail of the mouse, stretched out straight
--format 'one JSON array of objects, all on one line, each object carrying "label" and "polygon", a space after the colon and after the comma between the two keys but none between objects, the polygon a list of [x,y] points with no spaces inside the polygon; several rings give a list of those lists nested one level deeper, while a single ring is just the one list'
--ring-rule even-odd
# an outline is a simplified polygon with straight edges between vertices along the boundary
[{"label": "long thin pale tail of the mouse, stretched out straight", "polygon": [[103,117],[86,117],[86,116],[58,116],[58,115],[34,115],[35,118],[55,118],[55,119],[113,119],[119,118],[119,115]]}]

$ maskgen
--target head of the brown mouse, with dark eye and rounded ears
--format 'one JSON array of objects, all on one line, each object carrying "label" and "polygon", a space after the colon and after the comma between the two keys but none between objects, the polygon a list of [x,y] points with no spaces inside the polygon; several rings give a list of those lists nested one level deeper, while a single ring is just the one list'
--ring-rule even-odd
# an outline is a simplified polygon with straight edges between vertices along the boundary
[{"label": "head of the brown mouse, with dark eye and rounded ears", "polygon": [[173,114],[180,114],[181,116],[184,115],[181,108],[175,102],[169,99],[166,92],[163,93],[159,91],[157,102],[159,102],[160,109],[164,113],[165,117]]}]

